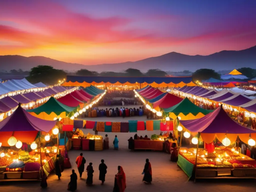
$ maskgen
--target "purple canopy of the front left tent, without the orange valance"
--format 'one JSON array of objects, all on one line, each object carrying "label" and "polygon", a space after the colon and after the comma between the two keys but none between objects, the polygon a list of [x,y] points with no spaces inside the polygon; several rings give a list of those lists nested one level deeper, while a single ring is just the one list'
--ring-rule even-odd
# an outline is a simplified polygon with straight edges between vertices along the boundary
[{"label": "purple canopy of the front left tent, without the orange valance", "polygon": [[57,121],[47,121],[30,115],[19,105],[15,112],[0,122],[3,131],[44,131],[49,132]]}]

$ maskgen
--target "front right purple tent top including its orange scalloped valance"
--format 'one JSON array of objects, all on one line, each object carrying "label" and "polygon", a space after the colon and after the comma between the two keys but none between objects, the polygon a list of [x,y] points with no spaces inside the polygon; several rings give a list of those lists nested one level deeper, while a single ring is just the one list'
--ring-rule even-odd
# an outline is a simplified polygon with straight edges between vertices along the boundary
[{"label": "front right purple tent top including its orange scalloped valance", "polygon": [[192,132],[195,136],[198,132],[201,133],[203,141],[207,144],[213,142],[217,137],[222,141],[227,134],[227,138],[231,143],[235,142],[237,136],[244,143],[248,143],[249,135],[256,141],[256,131],[244,127],[232,120],[229,115],[223,110],[222,105],[214,112],[205,115],[202,118],[195,120],[181,120],[182,126]]}]

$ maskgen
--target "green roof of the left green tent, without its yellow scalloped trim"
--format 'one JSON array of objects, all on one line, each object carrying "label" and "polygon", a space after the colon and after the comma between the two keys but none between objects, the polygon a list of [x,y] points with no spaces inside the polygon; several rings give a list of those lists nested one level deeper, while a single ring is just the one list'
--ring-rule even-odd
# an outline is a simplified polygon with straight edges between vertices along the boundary
[{"label": "green roof of the left green tent, without its yellow scalloped trim", "polygon": [[46,103],[35,109],[27,110],[27,112],[34,112],[36,114],[42,112],[50,114],[51,112],[54,112],[56,115],[59,115],[62,112],[70,113],[75,109],[75,107],[69,107],[67,105],[64,105],[61,102],[57,101],[54,97],[51,97]]}]

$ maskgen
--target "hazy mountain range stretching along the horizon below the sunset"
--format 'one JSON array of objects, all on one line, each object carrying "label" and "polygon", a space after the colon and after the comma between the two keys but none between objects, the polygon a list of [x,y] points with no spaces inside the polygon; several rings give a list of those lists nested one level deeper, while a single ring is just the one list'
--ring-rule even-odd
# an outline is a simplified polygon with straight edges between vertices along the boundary
[{"label": "hazy mountain range stretching along the horizon below the sunset", "polygon": [[33,56],[23,57],[19,55],[0,56],[0,69],[22,69],[29,70],[38,65],[50,65],[56,69],[74,71],[88,69],[93,71],[120,72],[127,68],[136,68],[143,72],[148,69],[161,69],[164,71],[195,71],[200,68],[219,70],[233,70],[234,68],[251,67],[256,68],[256,46],[240,51],[220,51],[211,55],[184,55],[170,52],[158,57],[150,57],[139,61],[128,61],[124,63],[112,63],[101,65],[82,65],[78,63],[67,63],[50,59],[47,57]]}]

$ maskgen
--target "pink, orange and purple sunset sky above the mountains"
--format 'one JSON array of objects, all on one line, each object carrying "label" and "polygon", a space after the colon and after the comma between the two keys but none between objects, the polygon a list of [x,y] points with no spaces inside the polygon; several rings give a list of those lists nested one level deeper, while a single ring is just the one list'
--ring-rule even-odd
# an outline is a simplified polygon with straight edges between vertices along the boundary
[{"label": "pink, orange and purple sunset sky above the mountains", "polygon": [[256,45],[255,0],[9,0],[0,55],[94,65]]}]

